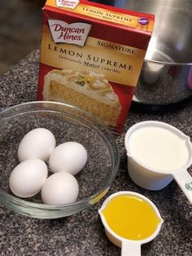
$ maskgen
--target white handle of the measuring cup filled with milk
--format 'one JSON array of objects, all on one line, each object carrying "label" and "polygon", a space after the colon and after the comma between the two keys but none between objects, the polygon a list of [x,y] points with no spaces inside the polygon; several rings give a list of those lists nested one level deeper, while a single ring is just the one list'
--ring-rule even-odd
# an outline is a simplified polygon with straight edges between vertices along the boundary
[{"label": "white handle of the measuring cup filled with milk", "polygon": [[187,170],[178,170],[172,173],[174,179],[192,204],[192,177]]}]

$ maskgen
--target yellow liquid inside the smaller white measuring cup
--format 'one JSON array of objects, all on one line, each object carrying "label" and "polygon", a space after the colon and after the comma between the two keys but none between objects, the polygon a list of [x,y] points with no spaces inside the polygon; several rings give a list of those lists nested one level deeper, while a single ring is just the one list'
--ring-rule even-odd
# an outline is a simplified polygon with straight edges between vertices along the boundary
[{"label": "yellow liquid inside the smaller white measuring cup", "polygon": [[112,198],[102,214],[113,232],[135,241],[151,236],[161,221],[147,201],[131,195]]}]

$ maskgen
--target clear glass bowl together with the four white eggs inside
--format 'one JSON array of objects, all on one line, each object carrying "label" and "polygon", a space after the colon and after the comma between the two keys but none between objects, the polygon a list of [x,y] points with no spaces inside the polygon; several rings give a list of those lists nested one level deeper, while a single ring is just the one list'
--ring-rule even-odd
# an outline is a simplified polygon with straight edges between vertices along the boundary
[{"label": "clear glass bowl together with the four white eggs inside", "polygon": [[50,101],[19,104],[0,117],[0,204],[33,218],[63,218],[107,193],[120,159],[97,118]]}]

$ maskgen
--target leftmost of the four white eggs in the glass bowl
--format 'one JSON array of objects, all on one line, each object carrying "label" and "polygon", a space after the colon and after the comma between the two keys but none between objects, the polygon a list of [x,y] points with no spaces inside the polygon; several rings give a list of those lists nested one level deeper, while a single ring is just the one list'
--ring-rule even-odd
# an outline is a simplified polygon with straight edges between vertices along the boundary
[{"label": "leftmost of the four white eggs in the glass bowl", "polygon": [[16,196],[34,196],[41,191],[47,175],[48,170],[44,161],[40,159],[25,160],[12,170],[9,186]]}]

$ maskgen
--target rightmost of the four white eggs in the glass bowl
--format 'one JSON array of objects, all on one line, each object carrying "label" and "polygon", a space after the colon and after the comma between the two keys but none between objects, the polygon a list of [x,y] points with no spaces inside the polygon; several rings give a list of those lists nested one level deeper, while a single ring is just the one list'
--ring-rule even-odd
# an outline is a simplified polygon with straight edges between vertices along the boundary
[{"label": "rightmost of the four white eggs in the glass bowl", "polygon": [[50,155],[50,170],[54,173],[67,171],[72,175],[83,169],[87,161],[87,152],[81,143],[66,142],[60,144]]}]

